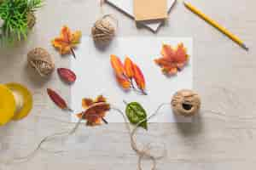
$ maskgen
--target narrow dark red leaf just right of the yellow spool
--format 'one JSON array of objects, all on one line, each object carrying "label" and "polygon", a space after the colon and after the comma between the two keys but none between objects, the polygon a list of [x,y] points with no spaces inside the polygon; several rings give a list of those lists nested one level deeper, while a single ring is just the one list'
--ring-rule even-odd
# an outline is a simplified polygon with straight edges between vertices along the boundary
[{"label": "narrow dark red leaf just right of the yellow spool", "polygon": [[66,101],[61,98],[59,94],[57,94],[54,90],[47,88],[47,94],[49,95],[49,98],[57,105],[60,107],[62,110],[68,110],[72,111],[68,106]]}]

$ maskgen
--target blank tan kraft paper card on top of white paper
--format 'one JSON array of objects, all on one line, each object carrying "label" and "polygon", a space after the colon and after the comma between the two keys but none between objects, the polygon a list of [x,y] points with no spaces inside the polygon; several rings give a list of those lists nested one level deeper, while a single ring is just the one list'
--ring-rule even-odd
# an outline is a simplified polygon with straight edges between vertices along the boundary
[{"label": "blank tan kraft paper card on top of white paper", "polygon": [[163,20],[167,18],[167,0],[133,0],[135,20]]}]

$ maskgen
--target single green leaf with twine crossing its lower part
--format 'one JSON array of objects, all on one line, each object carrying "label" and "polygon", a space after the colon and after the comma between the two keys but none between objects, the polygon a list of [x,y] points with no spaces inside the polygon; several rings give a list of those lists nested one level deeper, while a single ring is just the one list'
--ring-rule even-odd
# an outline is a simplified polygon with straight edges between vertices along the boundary
[{"label": "single green leaf with twine crossing its lower part", "polygon": [[[131,124],[134,125],[147,118],[147,112],[144,110],[143,106],[137,102],[131,102],[127,104],[125,114],[128,117]],[[143,127],[144,129],[148,130],[147,120],[141,122],[139,127]]]}]

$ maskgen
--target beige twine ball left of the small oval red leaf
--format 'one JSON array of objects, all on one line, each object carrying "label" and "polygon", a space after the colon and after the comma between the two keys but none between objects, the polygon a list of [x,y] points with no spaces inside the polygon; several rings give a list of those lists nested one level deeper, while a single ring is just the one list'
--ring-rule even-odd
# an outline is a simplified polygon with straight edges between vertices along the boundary
[{"label": "beige twine ball left of the small oval red leaf", "polygon": [[55,69],[50,54],[44,48],[34,48],[27,54],[27,62],[41,77],[48,76]]}]

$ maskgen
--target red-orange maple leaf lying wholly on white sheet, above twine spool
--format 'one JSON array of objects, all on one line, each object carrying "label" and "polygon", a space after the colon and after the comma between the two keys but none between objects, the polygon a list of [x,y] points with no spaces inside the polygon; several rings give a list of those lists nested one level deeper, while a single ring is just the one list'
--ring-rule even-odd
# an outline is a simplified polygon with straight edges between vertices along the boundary
[{"label": "red-orange maple leaf lying wholly on white sheet, above twine spool", "polygon": [[189,61],[189,55],[183,43],[179,43],[177,48],[172,48],[171,45],[163,44],[161,49],[162,57],[154,59],[154,62],[162,68],[162,71],[171,76],[181,71],[183,66]]}]

